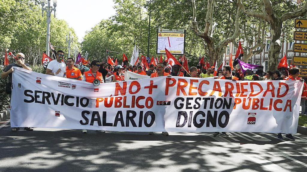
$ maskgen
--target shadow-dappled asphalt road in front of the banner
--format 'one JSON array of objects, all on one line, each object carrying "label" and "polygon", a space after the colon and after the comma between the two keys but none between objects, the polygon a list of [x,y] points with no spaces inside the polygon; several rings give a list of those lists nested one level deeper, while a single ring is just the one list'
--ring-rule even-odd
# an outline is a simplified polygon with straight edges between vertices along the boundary
[{"label": "shadow-dappled asphalt road in front of the banner", "polygon": [[0,126],[0,172],[307,171],[307,136],[276,134],[134,132],[43,129],[12,132]]}]

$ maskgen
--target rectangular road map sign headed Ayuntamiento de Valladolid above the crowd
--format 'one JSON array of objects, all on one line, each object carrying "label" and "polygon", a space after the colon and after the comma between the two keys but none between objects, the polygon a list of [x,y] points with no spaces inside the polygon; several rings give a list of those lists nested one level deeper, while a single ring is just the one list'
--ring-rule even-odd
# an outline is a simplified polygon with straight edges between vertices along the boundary
[{"label": "rectangular road map sign headed Ayuntamiento de Valladolid above the crowd", "polygon": [[[172,31],[172,30],[170,30]],[[157,54],[165,54],[165,48],[172,54],[184,54],[185,33],[158,32]]]}]

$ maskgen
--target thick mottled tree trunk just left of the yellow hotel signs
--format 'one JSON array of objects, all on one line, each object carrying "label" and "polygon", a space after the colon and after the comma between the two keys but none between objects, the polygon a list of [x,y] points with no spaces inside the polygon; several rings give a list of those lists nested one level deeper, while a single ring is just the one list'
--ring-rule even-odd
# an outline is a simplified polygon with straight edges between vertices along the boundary
[{"label": "thick mottled tree trunk just left of the yellow hotel signs", "polygon": [[278,55],[280,54],[281,50],[281,42],[280,37],[282,35],[282,22],[280,20],[275,21],[274,25],[271,24],[271,44],[269,48],[269,59],[268,65],[269,71],[274,71],[277,69],[278,66]]}]

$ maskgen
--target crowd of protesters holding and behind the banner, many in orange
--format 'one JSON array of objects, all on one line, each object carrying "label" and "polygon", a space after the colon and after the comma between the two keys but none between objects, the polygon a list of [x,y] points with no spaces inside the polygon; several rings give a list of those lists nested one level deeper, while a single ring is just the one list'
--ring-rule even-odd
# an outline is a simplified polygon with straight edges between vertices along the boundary
[{"label": "crowd of protesters holding and behind the banner, many in orange", "polygon": [[[2,78],[8,77],[8,84],[6,92],[11,94],[11,83],[12,83],[12,72],[14,72],[15,67],[21,67],[27,70],[32,70],[28,64],[25,64],[25,55],[18,53],[16,55],[17,62],[6,66],[1,74]],[[108,63],[99,62],[93,60],[90,63],[87,60],[82,61],[82,63],[76,65],[73,58],[68,58],[67,61],[64,60],[64,52],[58,50],[56,54],[56,59],[49,62],[46,74],[66,77],[75,80],[83,80],[86,82],[93,83],[95,79],[98,79],[100,83],[105,83],[107,77],[112,76],[112,82],[118,82],[124,80],[125,71],[134,72],[140,75],[148,75],[150,77],[160,77],[160,76],[181,76],[181,77],[198,77],[198,78],[214,78],[214,79],[226,79],[226,80],[302,80],[299,75],[299,68],[293,67],[288,73],[289,75],[283,75],[279,70],[266,71],[263,76],[254,74],[252,71],[245,71],[243,74],[240,69],[231,69],[230,65],[224,65],[222,69],[215,69],[214,66],[203,68],[202,66],[192,66],[189,68],[189,73],[186,69],[183,69],[181,65],[170,66],[166,61],[163,63],[157,63],[157,65],[149,65],[146,69],[145,66],[137,65],[110,65]],[[303,93],[301,95],[301,113],[300,115],[307,114],[307,87],[304,82]],[[306,109],[305,109],[306,108]],[[19,128],[13,128],[12,131],[17,131]],[[33,130],[30,127],[25,127],[25,130]],[[97,132],[106,132],[104,130],[96,130]],[[82,130],[83,133],[87,133],[87,130]],[[168,136],[167,132],[162,132],[164,136]],[[152,134],[152,133],[149,133]],[[229,136],[226,132],[215,132],[213,136]],[[286,137],[290,140],[295,140],[291,134],[286,134]],[[283,139],[282,134],[278,133],[278,139]]]}]

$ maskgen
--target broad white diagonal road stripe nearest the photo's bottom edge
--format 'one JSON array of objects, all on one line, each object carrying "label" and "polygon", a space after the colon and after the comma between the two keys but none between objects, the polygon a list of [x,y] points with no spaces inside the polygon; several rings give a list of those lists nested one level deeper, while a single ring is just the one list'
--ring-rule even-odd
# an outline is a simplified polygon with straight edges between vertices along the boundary
[{"label": "broad white diagonal road stripe nearest the photo's bottom edge", "polygon": [[270,170],[270,171],[276,171],[276,172],[282,172],[282,171],[287,171],[284,168],[262,158],[259,155],[244,155],[247,158],[251,159],[253,162],[260,164],[262,167]]}]

